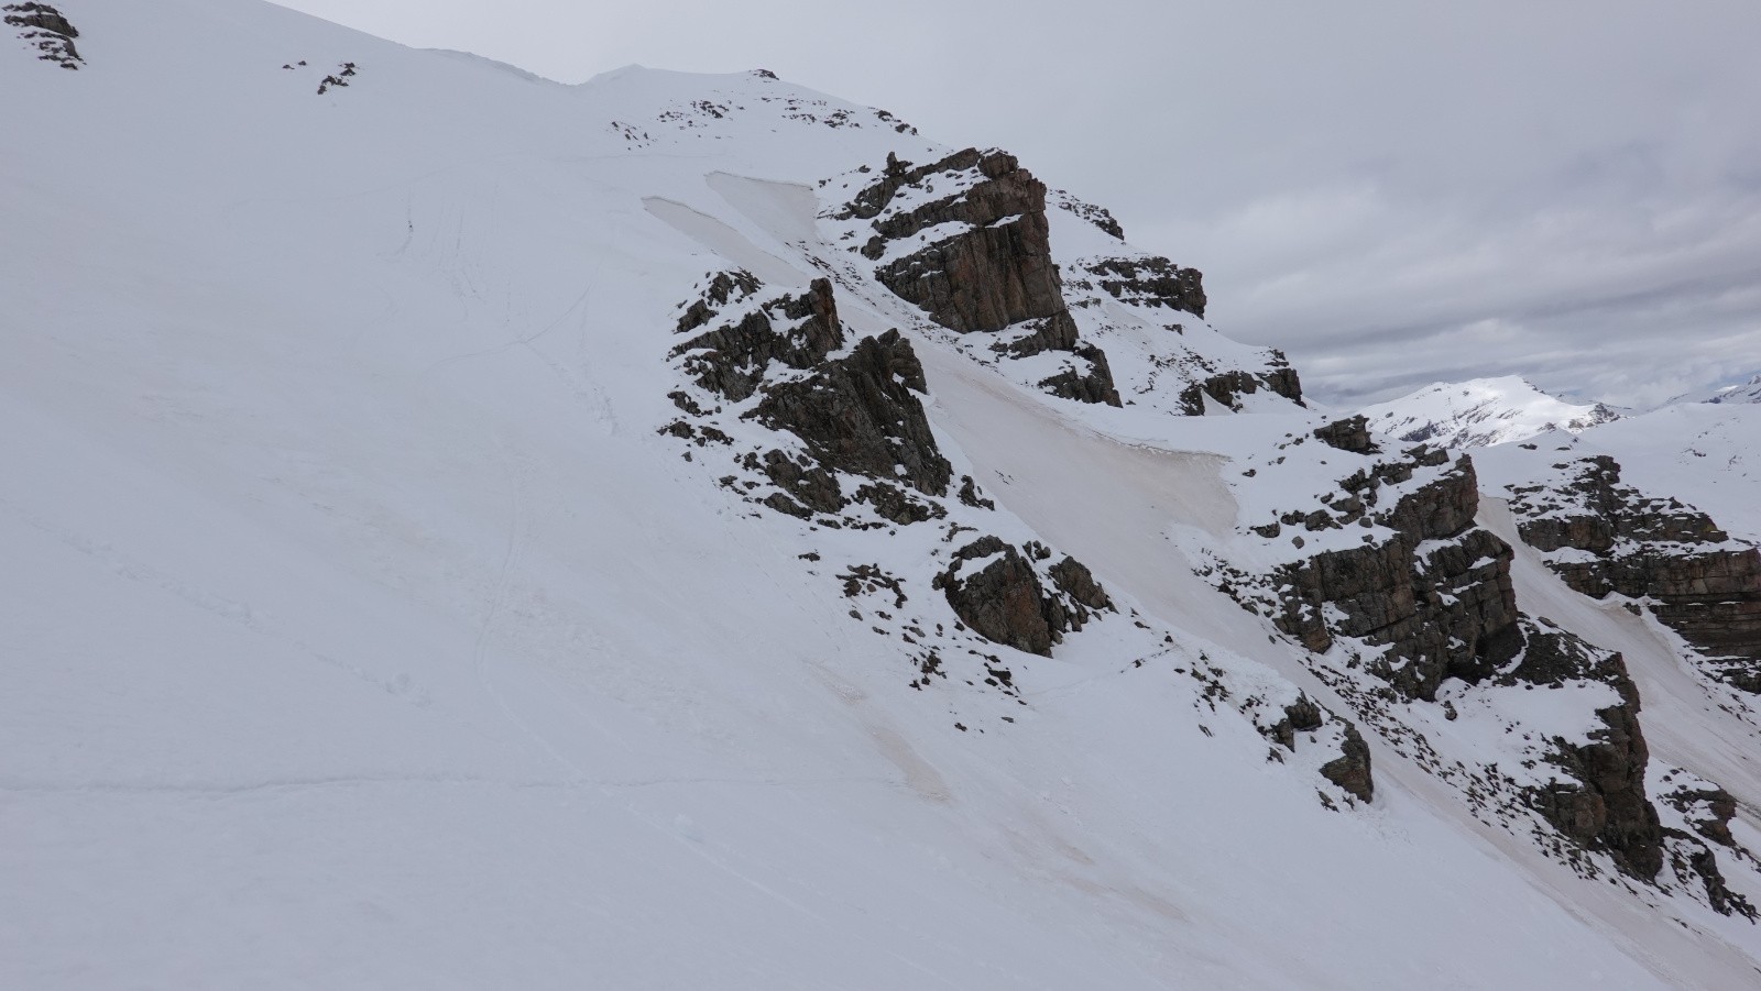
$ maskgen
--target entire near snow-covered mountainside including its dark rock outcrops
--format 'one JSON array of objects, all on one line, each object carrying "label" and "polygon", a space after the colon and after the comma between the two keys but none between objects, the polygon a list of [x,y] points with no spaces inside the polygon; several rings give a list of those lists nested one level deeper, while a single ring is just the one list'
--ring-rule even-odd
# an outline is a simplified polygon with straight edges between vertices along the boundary
[{"label": "entire near snow-covered mountainside including its dark rock outcrops", "polygon": [[56,16],[77,72],[0,53],[0,986],[1752,980],[1747,695],[1027,164]]}]

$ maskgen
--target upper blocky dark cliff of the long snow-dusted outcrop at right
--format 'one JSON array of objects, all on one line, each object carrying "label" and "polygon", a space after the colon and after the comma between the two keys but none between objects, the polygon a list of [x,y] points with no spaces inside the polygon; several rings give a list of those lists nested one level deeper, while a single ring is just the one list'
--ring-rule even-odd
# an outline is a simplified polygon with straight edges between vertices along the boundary
[{"label": "upper blocky dark cliff of the long snow-dusted outcrop at right", "polygon": [[1467,456],[1393,507],[1375,509],[1382,481],[1411,479],[1414,463],[1439,454],[1448,458],[1418,449],[1412,461],[1377,463],[1345,481],[1345,498],[1287,514],[1284,523],[1308,530],[1370,521],[1391,528],[1393,537],[1317,553],[1271,579],[1284,590],[1273,618],[1284,632],[1314,651],[1326,651],[1335,635],[1386,646],[1372,671],[1404,695],[1426,701],[1435,699],[1444,678],[1477,681],[1522,644],[1513,554],[1493,533],[1474,526],[1479,489]]}]

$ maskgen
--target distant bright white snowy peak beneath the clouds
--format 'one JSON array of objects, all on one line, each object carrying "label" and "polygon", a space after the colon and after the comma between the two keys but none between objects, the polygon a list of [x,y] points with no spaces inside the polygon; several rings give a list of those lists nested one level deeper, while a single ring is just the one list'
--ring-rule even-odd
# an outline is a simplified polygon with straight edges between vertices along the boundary
[{"label": "distant bright white snowy peak beneath the clouds", "polygon": [[1548,396],[1514,375],[1437,382],[1361,412],[1379,433],[1446,447],[1490,447],[1548,429],[1578,433],[1620,417],[1603,403],[1573,405]]}]

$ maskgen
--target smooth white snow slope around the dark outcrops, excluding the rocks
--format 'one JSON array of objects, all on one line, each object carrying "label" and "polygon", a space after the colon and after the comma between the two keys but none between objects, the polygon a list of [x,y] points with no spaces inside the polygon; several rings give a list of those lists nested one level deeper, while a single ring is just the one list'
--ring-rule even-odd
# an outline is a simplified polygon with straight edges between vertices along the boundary
[{"label": "smooth white snow slope around the dark outcrops, excluding the rocks", "polygon": [[[997,503],[949,512],[1118,606],[995,648],[1013,694],[965,655],[912,688],[845,593],[873,562],[953,627],[942,530],[682,458],[692,289],[803,290],[845,257],[821,180],[949,148],[761,74],[569,88],[243,0],[62,11],[77,70],[0,51],[0,984],[1752,977],[1752,924],[1585,880],[1379,739],[1349,808],[1331,738],[1268,759],[1259,709],[1345,702],[1182,547],[1236,540],[1231,458],[1321,422],[1291,403],[1053,400],[840,269]],[[1169,338],[1108,313],[1146,382]],[[1187,324],[1182,357],[1261,361]],[[1761,801],[1749,723],[1675,697],[1659,750]]]}]

